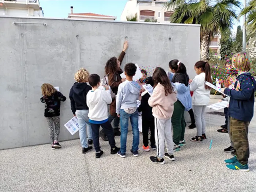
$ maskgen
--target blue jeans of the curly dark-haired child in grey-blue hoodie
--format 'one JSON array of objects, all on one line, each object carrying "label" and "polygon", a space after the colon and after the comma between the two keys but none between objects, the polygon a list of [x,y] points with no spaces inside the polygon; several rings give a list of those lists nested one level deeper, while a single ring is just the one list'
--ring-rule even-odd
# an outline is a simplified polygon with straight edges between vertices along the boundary
[{"label": "blue jeans of the curly dark-haired child in grey-blue hoodie", "polygon": [[120,125],[121,125],[121,137],[120,137],[120,152],[125,154],[126,152],[126,141],[127,141],[127,133],[128,133],[128,121],[131,121],[132,125],[132,134],[133,134],[133,142],[132,142],[132,151],[138,151],[140,135],[139,135],[139,115],[138,110],[136,110],[132,114],[126,113],[123,109],[120,110]]}]

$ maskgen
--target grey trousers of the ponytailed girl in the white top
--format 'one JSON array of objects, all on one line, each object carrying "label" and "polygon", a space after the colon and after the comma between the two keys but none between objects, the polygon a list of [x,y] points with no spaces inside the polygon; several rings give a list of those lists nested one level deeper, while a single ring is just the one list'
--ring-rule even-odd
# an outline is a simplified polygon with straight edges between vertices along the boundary
[{"label": "grey trousers of the ponytailed girl in the white top", "polygon": [[202,133],[205,134],[206,127],[204,120],[206,105],[192,105],[192,108],[195,115],[197,136],[202,136]]}]

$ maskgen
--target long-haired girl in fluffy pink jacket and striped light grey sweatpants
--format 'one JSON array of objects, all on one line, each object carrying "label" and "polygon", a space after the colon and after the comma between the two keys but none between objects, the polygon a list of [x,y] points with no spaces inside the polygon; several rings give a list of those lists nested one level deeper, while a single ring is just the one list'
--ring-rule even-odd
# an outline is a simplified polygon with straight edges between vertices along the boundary
[{"label": "long-haired girl in fluffy pink jacket and striped light grey sweatpants", "polygon": [[[165,159],[174,161],[173,139],[171,117],[173,114],[173,104],[177,101],[176,92],[165,70],[158,67],[153,73],[154,91],[148,99],[149,106],[153,107],[152,112],[155,117],[155,142],[157,143],[157,157],[150,157],[154,163],[164,164]],[[165,144],[167,153],[165,153]]]}]

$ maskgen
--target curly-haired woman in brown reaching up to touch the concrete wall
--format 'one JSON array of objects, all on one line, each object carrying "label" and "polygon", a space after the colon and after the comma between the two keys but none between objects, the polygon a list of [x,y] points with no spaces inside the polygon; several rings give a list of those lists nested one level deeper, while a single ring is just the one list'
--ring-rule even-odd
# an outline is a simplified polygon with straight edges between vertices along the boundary
[{"label": "curly-haired woman in brown reaching up to touch the concrete wall", "polygon": [[[128,41],[124,42],[124,48],[118,57],[111,57],[106,65],[105,65],[105,74],[108,76],[109,79],[109,86],[111,87],[113,93],[117,94],[117,89],[120,83],[125,81],[125,78],[121,78],[121,74],[123,73],[123,70],[120,68],[120,65],[124,59],[125,51],[128,48]],[[118,125],[120,122],[120,119],[117,117],[116,114],[116,99],[113,99],[112,103],[110,104],[110,116],[109,121],[110,123],[114,120],[114,134],[116,136],[120,136],[121,132],[119,131]],[[106,137],[103,129],[100,131],[99,136],[104,140],[107,141],[108,138]]]}]

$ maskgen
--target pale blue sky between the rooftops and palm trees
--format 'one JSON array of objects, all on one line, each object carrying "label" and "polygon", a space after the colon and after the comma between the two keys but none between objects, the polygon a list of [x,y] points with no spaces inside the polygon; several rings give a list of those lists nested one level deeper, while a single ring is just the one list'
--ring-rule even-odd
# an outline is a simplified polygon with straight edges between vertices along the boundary
[{"label": "pale blue sky between the rooftops and palm trees", "polygon": [[[70,6],[74,7],[74,13],[91,12],[95,14],[120,16],[127,0],[39,0],[44,10],[44,16],[47,18],[67,18],[70,13]],[[239,0],[243,4],[243,0]],[[243,5],[241,5],[243,6]],[[237,26],[243,25],[235,22],[233,31],[236,32]]]}]

